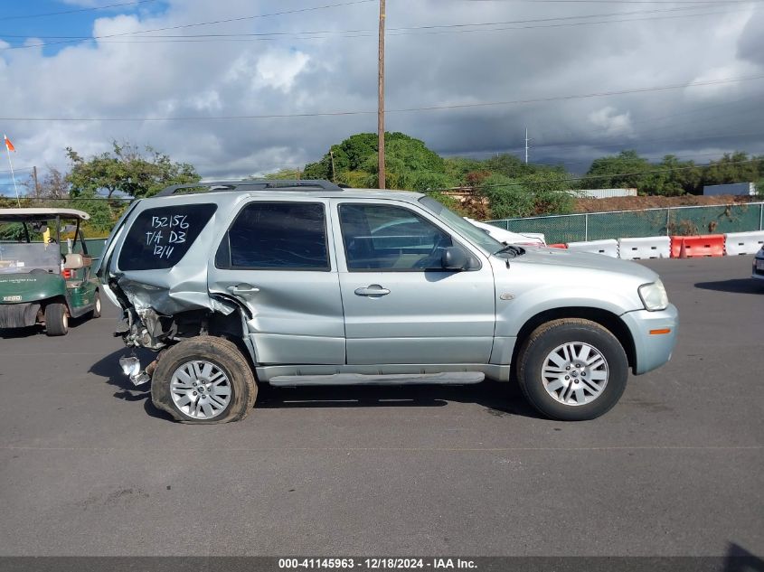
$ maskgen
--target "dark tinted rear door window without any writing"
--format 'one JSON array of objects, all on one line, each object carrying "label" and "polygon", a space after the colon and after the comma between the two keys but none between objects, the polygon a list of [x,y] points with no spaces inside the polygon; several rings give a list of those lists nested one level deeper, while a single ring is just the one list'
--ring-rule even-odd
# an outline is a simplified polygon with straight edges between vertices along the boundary
[{"label": "dark tinted rear door window without any writing", "polygon": [[239,213],[215,256],[219,268],[328,270],[324,205],[251,202]]}]

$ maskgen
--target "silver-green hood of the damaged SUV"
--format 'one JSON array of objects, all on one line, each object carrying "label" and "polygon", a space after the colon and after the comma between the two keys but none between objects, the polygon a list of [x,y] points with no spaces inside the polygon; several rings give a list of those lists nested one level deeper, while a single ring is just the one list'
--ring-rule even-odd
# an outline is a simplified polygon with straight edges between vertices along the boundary
[{"label": "silver-green hood of the damaged SUV", "polygon": [[509,259],[510,265],[514,262],[612,272],[634,277],[641,280],[643,284],[655,282],[658,279],[656,272],[636,262],[610,258],[602,254],[571,252],[565,248],[525,248],[523,256]]}]

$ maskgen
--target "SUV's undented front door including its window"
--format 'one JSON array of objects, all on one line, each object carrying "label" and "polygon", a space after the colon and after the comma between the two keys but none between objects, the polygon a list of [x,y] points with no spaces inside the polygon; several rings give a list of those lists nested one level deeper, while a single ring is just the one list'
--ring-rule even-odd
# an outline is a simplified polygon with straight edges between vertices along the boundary
[{"label": "SUV's undented front door including its window", "polygon": [[468,271],[441,265],[459,243],[408,203],[335,201],[349,364],[487,363],[495,327],[487,259]]}]

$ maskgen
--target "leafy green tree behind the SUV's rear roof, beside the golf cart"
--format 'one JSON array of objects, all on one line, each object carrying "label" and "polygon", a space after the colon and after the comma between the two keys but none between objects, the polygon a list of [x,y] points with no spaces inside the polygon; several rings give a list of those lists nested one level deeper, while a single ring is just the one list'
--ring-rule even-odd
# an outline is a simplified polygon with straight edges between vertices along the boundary
[{"label": "leafy green tree behind the SUV's rear roof, beside the golf cart", "polygon": [[95,196],[115,192],[131,197],[150,197],[171,184],[196,183],[200,176],[193,165],[175,163],[168,155],[147,145],[143,151],[137,145],[112,142],[112,150],[90,159],[83,158],[71,147],[66,149],[71,164],[67,183],[71,196]]}]

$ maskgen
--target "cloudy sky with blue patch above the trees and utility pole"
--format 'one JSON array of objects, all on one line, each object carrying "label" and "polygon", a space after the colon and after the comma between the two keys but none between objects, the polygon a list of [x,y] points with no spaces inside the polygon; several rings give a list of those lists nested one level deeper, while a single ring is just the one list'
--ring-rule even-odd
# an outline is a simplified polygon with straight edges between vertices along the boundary
[{"label": "cloudy sky with blue patch above the trees and utility pole", "polygon": [[[241,176],[376,131],[378,0],[0,6],[20,177],[112,139]],[[526,127],[532,160],[573,171],[623,148],[764,153],[761,0],[387,0],[387,30],[387,130],[443,155],[521,155]]]}]

